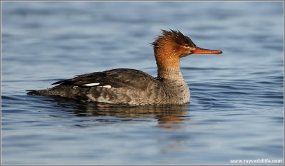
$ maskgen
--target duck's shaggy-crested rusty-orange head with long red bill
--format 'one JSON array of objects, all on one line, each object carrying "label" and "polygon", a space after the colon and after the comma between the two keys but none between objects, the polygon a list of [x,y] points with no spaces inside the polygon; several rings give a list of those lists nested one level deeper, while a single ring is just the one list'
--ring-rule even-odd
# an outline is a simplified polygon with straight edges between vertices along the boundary
[{"label": "duck's shaggy-crested rusty-orange head with long red bill", "polygon": [[180,31],[162,30],[155,42],[151,43],[155,51],[158,68],[179,68],[180,58],[190,54],[220,54],[222,51],[199,48]]}]

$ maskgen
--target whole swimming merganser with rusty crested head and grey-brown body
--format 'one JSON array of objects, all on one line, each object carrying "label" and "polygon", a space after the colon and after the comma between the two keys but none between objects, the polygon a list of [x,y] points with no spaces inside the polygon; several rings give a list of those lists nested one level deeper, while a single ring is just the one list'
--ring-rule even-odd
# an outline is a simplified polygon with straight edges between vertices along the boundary
[{"label": "whole swimming merganser with rusty crested head and grey-brown body", "polygon": [[129,105],[185,104],[190,90],[180,71],[180,58],[190,54],[219,54],[222,51],[199,48],[180,31],[162,30],[154,48],[157,78],[135,69],[118,68],[88,73],[58,81],[46,90],[28,90],[29,95],[56,95],[85,102]]}]

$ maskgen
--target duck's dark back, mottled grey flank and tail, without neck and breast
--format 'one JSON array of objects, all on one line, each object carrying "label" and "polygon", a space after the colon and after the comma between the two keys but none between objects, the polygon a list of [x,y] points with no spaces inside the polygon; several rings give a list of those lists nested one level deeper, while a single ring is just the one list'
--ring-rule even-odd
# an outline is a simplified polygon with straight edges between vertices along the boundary
[{"label": "duck's dark back, mottled grey flank and tail, without neck and breast", "polygon": [[118,68],[88,73],[58,81],[56,87],[30,90],[30,95],[58,95],[84,101],[125,103],[130,105],[163,104],[167,94],[161,81],[135,69]]}]

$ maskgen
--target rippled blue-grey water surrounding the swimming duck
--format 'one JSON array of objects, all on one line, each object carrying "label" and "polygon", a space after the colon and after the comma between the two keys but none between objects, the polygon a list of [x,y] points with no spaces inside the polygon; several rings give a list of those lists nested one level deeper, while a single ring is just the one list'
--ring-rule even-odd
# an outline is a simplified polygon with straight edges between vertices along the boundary
[{"label": "rippled blue-grey water surrounding the swimming duck", "polygon": [[[2,164],[284,161],[282,1],[5,1],[1,9]],[[167,28],[223,51],[182,58],[190,104],[119,107],[26,95],[110,68],[156,76],[148,43]]]}]

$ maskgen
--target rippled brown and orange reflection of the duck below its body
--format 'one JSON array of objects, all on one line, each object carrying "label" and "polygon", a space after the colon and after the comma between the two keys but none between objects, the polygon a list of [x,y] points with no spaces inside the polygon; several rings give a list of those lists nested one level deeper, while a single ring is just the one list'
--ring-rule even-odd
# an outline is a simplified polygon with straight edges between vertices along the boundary
[{"label": "rippled brown and orange reflection of the duck below its body", "polygon": [[[161,128],[175,128],[172,124],[189,120],[190,113],[188,104],[167,105],[165,107],[155,105],[111,105],[108,103],[70,103],[71,100],[68,98],[54,98],[54,100],[48,101],[56,103],[58,108],[65,108],[63,111],[68,111],[81,117],[94,117],[95,121],[148,121],[153,118],[157,119]],[[66,110],[66,108],[69,109]]]}]

